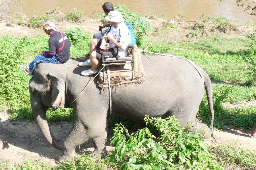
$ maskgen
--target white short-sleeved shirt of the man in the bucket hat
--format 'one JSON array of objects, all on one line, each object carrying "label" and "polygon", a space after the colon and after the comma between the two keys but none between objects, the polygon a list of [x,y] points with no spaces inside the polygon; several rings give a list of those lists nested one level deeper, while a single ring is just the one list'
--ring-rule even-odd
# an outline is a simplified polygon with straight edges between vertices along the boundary
[{"label": "white short-sleeved shirt of the man in the bucket hat", "polygon": [[[109,31],[110,29],[110,31]],[[105,35],[107,33],[110,33],[114,36],[115,40],[121,45],[121,46],[128,46],[130,41],[131,41],[131,35],[130,35],[130,31],[129,28],[127,27],[127,25],[124,22],[120,22],[117,25],[117,28],[115,29],[115,26],[111,25],[111,27],[109,27],[108,31],[105,33]],[[113,42],[110,41],[109,43],[110,46],[116,46]],[[116,48],[114,48],[115,52],[117,52]],[[118,55],[120,57],[125,57],[127,56],[128,53],[128,48],[125,48],[125,50],[122,50],[120,48],[118,48]]]}]

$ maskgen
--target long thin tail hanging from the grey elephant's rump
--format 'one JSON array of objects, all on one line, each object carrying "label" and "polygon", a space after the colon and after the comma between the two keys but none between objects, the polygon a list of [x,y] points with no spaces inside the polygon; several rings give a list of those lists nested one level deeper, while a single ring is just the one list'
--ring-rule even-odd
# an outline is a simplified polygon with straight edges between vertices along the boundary
[{"label": "long thin tail hanging from the grey elephant's rump", "polygon": [[208,106],[209,106],[210,115],[211,115],[211,131],[212,131],[211,137],[214,137],[213,135],[214,110],[213,110],[213,101],[212,101],[212,82],[210,80],[210,77],[207,75],[207,73],[204,70],[201,70],[201,71],[205,78],[205,91],[206,91]]}]

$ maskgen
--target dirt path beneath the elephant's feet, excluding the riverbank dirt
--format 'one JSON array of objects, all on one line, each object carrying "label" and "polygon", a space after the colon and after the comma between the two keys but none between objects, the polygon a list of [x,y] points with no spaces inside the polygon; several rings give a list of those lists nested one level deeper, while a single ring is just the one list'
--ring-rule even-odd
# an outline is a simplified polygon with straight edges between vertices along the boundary
[{"label": "dirt path beneath the elephant's feet, excluding the riverbank dirt", "polygon": [[[61,151],[53,148],[44,138],[37,124],[34,121],[19,120],[10,122],[7,120],[8,112],[0,113],[0,162],[7,162],[11,165],[22,165],[25,160],[38,162],[44,160],[50,165],[57,165],[58,156]],[[50,124],[53,135],[56,139],[63,142],[64,137],[71,129],[69,122]],[[112,131],[109,129],[109,132]],[[234,130],[215,131],[215,140],[207,139],[208,145],[229,145],[235,143],[240,148],[249,149],[256,154],[256,137],[251,137],[249,131]],[[110,146],[111,133],[108,135],[107,150],[113,149]],[[89,140],[82,146],[80,151],[85,153],[93,150],[92,141]],[[77,148],[77,152],[79,148]]]}]

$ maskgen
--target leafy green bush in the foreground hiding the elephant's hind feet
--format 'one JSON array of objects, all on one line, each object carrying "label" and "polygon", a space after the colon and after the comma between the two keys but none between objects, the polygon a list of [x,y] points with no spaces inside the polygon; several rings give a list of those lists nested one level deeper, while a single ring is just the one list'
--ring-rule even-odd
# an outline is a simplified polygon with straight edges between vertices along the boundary
[{"label": "leafy green bush in the foreground hiding the elephant's hind feet", "polygon": [[191,125],[184,129],[175,117],[146,116],[145,122],[149,128],[131,135],[121,124],[116,124],[110,143],[116,144],[111,161],[120,169],[222,169],[210,155],[201,135],[189,131]]}]

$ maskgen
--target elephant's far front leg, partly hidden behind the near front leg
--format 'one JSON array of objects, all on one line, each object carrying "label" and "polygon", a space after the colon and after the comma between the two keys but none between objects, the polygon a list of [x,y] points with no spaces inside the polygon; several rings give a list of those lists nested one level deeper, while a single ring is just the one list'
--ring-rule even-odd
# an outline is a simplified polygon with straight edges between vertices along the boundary
[{"label": "elephant's far front leg, partly hidden behind the near front leg", "polygon": [[106,120],[106,128],[103,134],[97,138],[92,139],[92,142],[94,144],[94,152],[93,154],[98,156],[100,155],[101,158],[104,158],[107,156],[107,149],[106,149],[106,143],[107,143],[107,134],[108,134],[108,118]]}]

